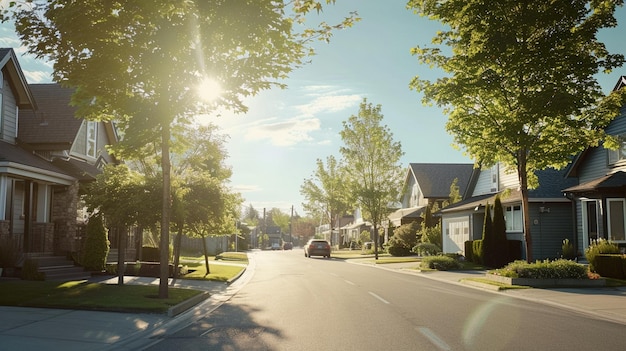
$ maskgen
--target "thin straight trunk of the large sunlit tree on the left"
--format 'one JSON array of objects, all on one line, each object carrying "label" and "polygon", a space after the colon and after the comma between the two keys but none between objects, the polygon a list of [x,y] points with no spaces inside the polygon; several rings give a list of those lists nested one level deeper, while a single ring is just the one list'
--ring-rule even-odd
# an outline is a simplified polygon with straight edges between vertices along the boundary
[{"label": "thin straight trunk of the large sunlit tree on the left", "polygon": [[169,280],[169,230],[170,230],[170,125],[163,121],[161,131],[161,168],[163,171],[163,210],[161,213],[161,271],[159,280],[159,298],[168,298]]}]

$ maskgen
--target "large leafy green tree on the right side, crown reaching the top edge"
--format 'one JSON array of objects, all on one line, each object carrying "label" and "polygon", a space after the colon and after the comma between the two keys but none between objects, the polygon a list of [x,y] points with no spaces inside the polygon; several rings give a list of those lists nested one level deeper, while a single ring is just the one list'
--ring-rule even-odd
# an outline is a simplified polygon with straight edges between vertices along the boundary
[{"label": "large leafy green tree on the right side, crown reaching the top edge", "polygon": [[[411,0],[408,6],[446,26],[434,47],[412,50],[445,73],[415,77],[424,101],[444,107],[446,129],[477,164],[517,171],[527,260],[532,260],[528,189],[535,172],[562,168],[605,138],[623,94],[605,96],[595,78],[620,67],[622,55],[598,41],[614,27],[622,0]],[[444,50],[448,46],[451,50]],[[607,139],[615,147],[614,139]],[[606,145],[606,144],[605,144]]]}]

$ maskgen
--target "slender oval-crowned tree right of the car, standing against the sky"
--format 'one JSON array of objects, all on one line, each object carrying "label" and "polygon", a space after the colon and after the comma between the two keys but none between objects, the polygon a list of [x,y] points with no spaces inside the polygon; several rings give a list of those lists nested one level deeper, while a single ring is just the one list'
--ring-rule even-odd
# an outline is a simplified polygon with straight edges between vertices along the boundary
[{"label": "slender oval-crowned tree right of the car, standing against the sky", "polygon": [[348,167],[346,179],[351,198],[374,229],[374,256],[378,259],[378,228],[402,189],[402,145],[381,125],[381,106],[363,99],[357,116],[343,121],[340,151]]}]

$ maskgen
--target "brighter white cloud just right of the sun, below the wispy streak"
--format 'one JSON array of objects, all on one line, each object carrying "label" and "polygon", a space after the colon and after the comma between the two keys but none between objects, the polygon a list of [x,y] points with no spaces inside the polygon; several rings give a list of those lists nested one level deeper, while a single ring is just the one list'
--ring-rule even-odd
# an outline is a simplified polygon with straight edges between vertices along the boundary
[{"label": "brighter white cloud just right of the sun, below the wispy streak", "polygon": [[269,140],[277,146],[290,146],[312,140],[310,133],[320,129],[320,120],[317,118],[292,118],[275,123],[268,122],[270,120],[261,121],[248,129],[246,139]]}]

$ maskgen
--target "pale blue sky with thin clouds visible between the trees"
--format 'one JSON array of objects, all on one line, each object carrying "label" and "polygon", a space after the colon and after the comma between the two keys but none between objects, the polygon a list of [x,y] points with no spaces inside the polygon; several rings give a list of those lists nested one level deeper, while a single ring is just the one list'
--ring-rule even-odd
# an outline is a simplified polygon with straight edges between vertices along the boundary
[{"label": "pale blue sky with thin clouds visible between the trees", "polygon": [[[405,0],[337,0],[321,19],[337,22],[356,10],[362,20],[336,32],[329,44],[316,44],[312,63],[284,81],[287,89],[248,99],[245,115],[205,118],[230,136],[231,185],[242,193],[246,206],[252,204],[259,211],[276,207],[285,213],[294,206],[304,214],[300,185],[313,174],[316,159],[339,157],[342,121],[358,113],[363,98],[382,106],[384,123],[402,144],[404,167],[410,162],[472,163],[452,148],[441,110],[423,106],[421,95],[408,88],[415,75],[428,79],[440,75],[410,55],[412,47],[429,44],[440,27],[406,10],[405,4]],[[620,24],[626,23],[625,8],[619,8],[617,16]],[[626,54],[625,26],[600,34],[609,51]],[[21,56],[20,43],[6,24],[0,26],[0,46],[17,50],[30,83],[50,82],[51,65]],[[621,75],[626,75],[626,67],[598,79],[609,92]]]}]

